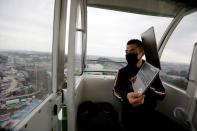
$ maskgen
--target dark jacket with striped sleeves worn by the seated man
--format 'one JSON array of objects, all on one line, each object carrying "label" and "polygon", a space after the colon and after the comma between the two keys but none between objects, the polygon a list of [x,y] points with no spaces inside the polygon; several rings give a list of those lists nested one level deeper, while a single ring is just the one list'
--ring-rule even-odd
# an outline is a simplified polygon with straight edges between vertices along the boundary
[{"label": "dark jacket with striped sleeves worn by the seated man", "polygon": [[157,105],[157,100],[162,100],[166,95],[165,89],[158,76],[145,92],[144,104],[138,107],[133,107],[127,100],[127,93],[133,92],[131,79],[136,76],[139,69],[140,68],[129,67],[127,65],[126,67],[121,68],[117,73],[113,91],[114,95],[122,101],[123,110],[138,108],[153,109]]}]

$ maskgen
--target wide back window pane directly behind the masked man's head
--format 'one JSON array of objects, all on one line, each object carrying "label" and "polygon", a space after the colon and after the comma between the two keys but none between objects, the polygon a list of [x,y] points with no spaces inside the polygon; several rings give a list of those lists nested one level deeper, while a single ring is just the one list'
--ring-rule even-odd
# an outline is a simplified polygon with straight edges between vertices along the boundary
[{"label": "wide back window pane directly behind the masked man's head", "polygon": [[[86,71],[108,74],[125,66],[126,43],[141,39],[141,34],[154,26],[159,41],[170,17],[148,16],[88,7]],[[146,21],[146,22],[144,22]],[[103,72],[103,73],[102,73]],[[111,73],[109,73],[111,74]]]}]

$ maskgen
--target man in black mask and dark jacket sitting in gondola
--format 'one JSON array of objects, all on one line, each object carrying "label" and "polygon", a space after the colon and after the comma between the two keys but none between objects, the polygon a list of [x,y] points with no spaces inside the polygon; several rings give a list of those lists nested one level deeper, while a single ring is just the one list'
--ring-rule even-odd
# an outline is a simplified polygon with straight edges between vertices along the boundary
[{"label": "man in black mask and dark jacket sitting in gondola", "polygon": [[145,94],[135,93],[132,88],[132,80],[143,63],[144,50],[142,42],[132,39],[127,42],[126,60],[127,66],[121,68],[114,83],[114,95],[122,103],[122,125],[128,131],[151,130],[154,123],[150,118],[157,105],[157,100],[165,97],[165,89],[159,76],[151,84]]}]

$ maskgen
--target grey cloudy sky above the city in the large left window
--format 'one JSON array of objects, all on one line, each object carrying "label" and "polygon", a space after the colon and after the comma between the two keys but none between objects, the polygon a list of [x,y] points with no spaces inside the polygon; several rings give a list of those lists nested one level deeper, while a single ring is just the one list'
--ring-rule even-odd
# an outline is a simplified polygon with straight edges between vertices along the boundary
[{"label": "grey cloudy sky above the city in the large left window", "polygon": [[54,0],[0,0],[0,49],[51,51]]}]

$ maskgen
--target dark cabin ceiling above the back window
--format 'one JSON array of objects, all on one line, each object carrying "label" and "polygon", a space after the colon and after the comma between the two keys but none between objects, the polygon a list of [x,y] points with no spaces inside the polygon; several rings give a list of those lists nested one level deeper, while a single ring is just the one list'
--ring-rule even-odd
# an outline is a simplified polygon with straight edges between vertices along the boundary
[{"label": "dark cabin ceiling above the back window", "polygon": [[195,0],[87,0],[88,6],[170,17],[181,8],[197,7],[196,3]]}]

